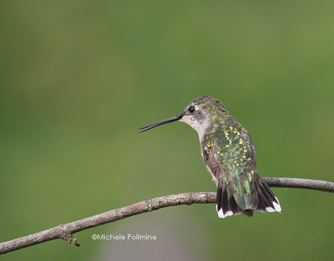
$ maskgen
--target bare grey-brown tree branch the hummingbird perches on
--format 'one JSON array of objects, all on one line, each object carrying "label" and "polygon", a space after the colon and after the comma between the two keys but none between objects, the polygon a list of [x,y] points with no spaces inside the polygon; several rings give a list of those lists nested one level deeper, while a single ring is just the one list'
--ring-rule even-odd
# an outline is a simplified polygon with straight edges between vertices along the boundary
[{"label": "bare grey-brown tree branch the hummingbird perches on", "polygon": [[[264,178],[264,180],[267,182],[269,187],[300,188],[334,193],[334,183],[327,181],[297,178]],[[0,254],[38,245],[53,239],[63,239],[71,245],[79,247],[80,245],[77,242],[77,239],[73,237],[72,234],[85,229],[101,226],[126,217],[170,206],[179,206],[184,204],[191,205],[193,203],[215,203],[215,201],[216,193],[214,192],[183,193],[154,198],[121,209],[110,210],[96,216],[87,217],[85,219],[60,225],[39,233],[1,243]]]}]

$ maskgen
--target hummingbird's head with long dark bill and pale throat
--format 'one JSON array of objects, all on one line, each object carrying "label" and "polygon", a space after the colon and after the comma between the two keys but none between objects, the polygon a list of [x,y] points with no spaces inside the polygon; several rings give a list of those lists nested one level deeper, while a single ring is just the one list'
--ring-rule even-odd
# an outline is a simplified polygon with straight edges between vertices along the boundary
[{"label": "hummingbird's head with long dark bill and pale throat", "polygon": [[170,119],[141,127],[139,128],[139,132],[144,132],[145,130],[169,122],[182,121],[195,129],[201,138],[206,133],[206,130],[212,120],[212,116],[217,114],[218,111],[226,111],[224,105],[211,96],[201,96],[189,103],[181,114]]}]

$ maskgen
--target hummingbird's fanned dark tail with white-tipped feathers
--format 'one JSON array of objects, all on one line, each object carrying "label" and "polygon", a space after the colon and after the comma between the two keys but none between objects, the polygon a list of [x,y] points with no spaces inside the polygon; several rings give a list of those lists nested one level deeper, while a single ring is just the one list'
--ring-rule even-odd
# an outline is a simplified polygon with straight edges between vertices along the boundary
[{"label": "hummingbird's fanned dark tail with white-tipped feathers", "polygon": [[[220,218],[240,213],[252,216],[255,209],[261,212],[281,212],[279,200],[256,171],[251,182],[240,178],[230,179],[224,185],[219,183],[216,209]],[[245,182],[249,184],[249,188]],[[240,188],[243,188],[242,191]]]}]

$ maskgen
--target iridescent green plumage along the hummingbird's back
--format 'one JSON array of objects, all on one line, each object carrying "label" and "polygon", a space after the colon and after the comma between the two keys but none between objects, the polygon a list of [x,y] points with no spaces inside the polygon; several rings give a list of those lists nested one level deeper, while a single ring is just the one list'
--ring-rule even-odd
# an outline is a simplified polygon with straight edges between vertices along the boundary
[{"label": "iridescent green plumage along the hummingbird's back", "polygon": [[228,114],[212,117],[212,125],[206,135],[208,147],[214,147],[222,163],[222,184],[231,190],[238,206],[253,209],[256,195],[252,177],[255,169],[254,147],[247,131]]}]

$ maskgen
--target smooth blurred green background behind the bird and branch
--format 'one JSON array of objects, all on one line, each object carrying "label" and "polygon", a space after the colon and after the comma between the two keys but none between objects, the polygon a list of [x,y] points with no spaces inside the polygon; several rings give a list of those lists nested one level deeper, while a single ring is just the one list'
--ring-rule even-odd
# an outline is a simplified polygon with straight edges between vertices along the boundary
[{"label": "smooth blurred green background behind the bird and branch", "polygon": [[[154,197],[215,191],[197,133],[211,95],[252,135],[263,177],[334,181],[334,2],[0,4],[0,241]],[[332,260],[334,197],[273,189],[282,214],[172,207],[2,260]],[[92,240],[151,234],[154,242]]]}]

